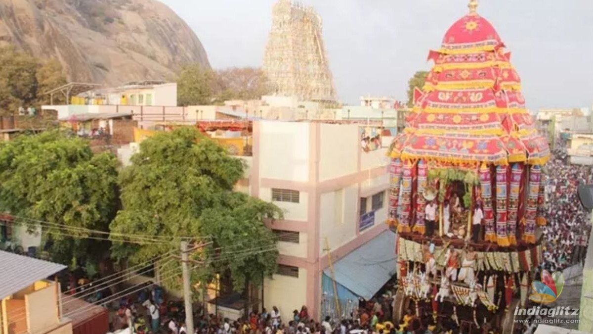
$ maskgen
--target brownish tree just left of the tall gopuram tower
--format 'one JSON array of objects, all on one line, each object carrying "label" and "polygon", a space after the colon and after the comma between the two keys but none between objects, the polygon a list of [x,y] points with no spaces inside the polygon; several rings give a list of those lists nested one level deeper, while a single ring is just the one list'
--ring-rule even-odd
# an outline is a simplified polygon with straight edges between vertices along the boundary
[{"label": "brownish tree just left of the tall gopuram tower", "polygon": [[259,100],[272,92],[272,84],[260,68],[231,67],[216,71],[218,92],[232,92],[234,99]]}]

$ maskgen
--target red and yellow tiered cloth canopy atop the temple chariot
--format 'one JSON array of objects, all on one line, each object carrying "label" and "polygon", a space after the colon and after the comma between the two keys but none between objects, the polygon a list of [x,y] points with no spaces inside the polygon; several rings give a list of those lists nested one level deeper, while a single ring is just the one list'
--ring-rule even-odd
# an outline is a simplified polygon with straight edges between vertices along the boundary
[{"label": "red and yellow tiered cloth canopy atop the temple chariot", "polygon": [[543,165],[550,157],[525,108],[521,78],[492,24],[470,12],[445,33],[406,129],[394,138],[393,158],[447,163]]}]

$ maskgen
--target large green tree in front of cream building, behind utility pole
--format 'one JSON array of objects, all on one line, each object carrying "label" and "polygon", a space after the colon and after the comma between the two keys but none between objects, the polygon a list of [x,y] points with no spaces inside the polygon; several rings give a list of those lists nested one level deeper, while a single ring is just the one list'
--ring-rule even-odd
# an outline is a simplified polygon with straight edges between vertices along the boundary
[{"label": "large green tree in front of cream building, behind utility pole", "polygon": [[[275,272],[276,240],[263,219],[278,218],[282,212],[233,191],[244,175],[240,159],[194,128],[179,128],[142,141],[131,162],[120,174],[123,209],[111,231],[166,235],[170,241],[132,247],[114,242],[114,256],[141,263],[169,251],[177,254],[181,237],[209,237],[212,244],[194,254],[196,260],[208,263],[193,270],[193,278],[202,286],[217,273],[229,273],[234,288],[242,291],[246,282],[260,283],[262,274]],[[178,264],[165,265],[162,271],[171,272],[168,267],[173,266]],[[174,287],[179,282],[164,283]]]}]

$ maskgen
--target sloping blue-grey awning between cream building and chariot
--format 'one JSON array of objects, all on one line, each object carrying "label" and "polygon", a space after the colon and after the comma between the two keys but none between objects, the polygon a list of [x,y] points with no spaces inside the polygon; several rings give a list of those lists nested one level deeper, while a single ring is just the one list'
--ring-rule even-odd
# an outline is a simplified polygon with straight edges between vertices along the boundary
[{"label": "sloping blue-grey awning between cream building and chariot", "polygon": [[[336,282],[355,295],[371,299],[396,273],[396,234],[382,232],[333,264]],[[330,269],[324,273],[332,277]]]}]

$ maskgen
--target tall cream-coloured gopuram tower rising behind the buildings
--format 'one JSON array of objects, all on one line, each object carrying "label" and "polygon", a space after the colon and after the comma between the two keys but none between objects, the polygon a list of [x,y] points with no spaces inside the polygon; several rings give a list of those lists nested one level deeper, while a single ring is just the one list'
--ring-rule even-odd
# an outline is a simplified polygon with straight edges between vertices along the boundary
[{"label": "tall cream-coloured gopuram tower rising behind the buildings", "polygon": [[319,15],[313,8],[290,0],[279,0],[272,13],[263,70],[275,93],[303,100],[336,101]]}]

